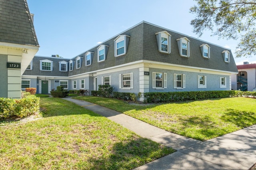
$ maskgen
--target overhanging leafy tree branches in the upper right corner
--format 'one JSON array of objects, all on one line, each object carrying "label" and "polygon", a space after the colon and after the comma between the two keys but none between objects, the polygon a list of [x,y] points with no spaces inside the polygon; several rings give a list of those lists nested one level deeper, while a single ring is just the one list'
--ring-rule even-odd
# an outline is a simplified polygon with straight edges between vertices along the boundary
[{"label": "overhanging leafy tree branches in the upper right corner", "polygon": [[255,0],[195,0],[190,8],[195,14],[191,20],[193,32],[199,35],[204,30],[212,31],[224,39],[240,39],[236,57],[256,55],[256,1]]}]

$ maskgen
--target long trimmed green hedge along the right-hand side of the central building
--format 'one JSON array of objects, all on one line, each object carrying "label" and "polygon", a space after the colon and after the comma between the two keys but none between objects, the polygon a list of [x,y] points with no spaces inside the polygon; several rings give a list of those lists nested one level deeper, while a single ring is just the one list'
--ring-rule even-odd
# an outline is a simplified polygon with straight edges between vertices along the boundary
[{"label": "long trimmed green hedge along the right-hand side of the central building", "polygon": [[230,97],[252,97],[256,98],[256,92],[243,91],[192,91],[192,92],[148,92],[144,93],[144,102],[180,102],[185,100],[206,100],[212,98]]}]

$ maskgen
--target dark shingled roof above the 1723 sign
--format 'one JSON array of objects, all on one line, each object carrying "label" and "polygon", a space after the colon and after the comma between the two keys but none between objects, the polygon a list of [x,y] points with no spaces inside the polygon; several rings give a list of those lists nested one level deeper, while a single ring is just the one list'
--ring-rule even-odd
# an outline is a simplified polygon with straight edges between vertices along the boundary
[{"label": "dark shingled roof above the 1723 sign", "polygon": [[27,0],[0,0],[0,42],[39,46]]}]

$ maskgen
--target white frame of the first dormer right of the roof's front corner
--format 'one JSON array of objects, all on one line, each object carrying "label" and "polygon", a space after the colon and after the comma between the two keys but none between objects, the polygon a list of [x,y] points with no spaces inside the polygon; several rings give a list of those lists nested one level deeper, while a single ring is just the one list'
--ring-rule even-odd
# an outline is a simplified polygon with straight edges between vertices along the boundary
[{"label": "white frame of the first dormer right of the roof's front corner", "polygon": [[[158,32],[158,33],[155,33],[155,35],[156,35],[156,41],[158,43],[158,51],[160,53],[170,54],[171,53],[171,35],[167,31]],[[162,50],[162,38],[167,39],[167,51]]]}]

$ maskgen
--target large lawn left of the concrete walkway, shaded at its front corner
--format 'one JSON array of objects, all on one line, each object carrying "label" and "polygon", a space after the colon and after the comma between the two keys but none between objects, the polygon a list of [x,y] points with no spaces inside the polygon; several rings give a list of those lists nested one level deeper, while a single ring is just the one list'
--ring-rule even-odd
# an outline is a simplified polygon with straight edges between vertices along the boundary
[{"label": "large lawn left of the concrete walkway, shaded at its front corner", "polygon": [[0,126],[0,169],[133,169],[175,150],[72,102],[40,98],[43,118]]}]

